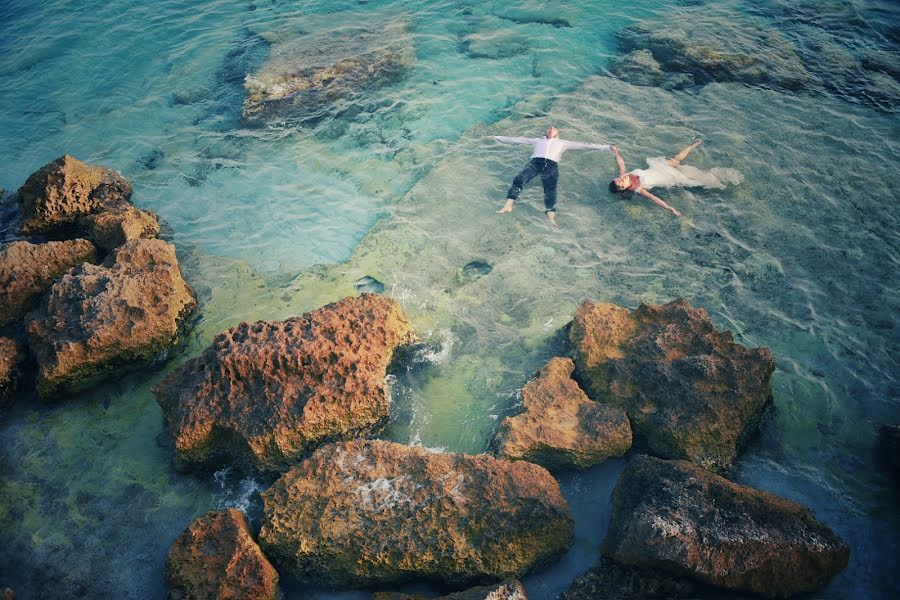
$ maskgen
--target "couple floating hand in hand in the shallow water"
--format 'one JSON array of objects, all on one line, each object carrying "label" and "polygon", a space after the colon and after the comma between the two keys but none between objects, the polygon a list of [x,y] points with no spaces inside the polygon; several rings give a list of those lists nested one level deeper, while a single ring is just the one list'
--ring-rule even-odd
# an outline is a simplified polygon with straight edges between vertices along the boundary
[{"label": "couple floating hand in hand in the shallow water", "polygon": [[556,127],[547,129],[542,138],[493,136],[498,142],[507,144],[526,144],[533,148],[531,161],[516,175],[506,193],[506,204],[498,213],[512,211],[513,205],[529,181],[541,176],[544,185],[544,212],[550,223],[556,225],[556,183],[559,180],[559,161],[566,150],[609,150],[616,156],[619,175],[609,183],[609,191],[613,193],[635,192],[647,198],[657,206],[669,211],[676,217],[681,213],[653,195],[650,190],[655,187],[705,187],[722,189],[728,183],[740,183],[743,179],[734,169],[714,168],[702,171],[690,165],[681,164],[702,141],[697,140],[672,158],[648,158],[646,169],[628,171],[625,161],[616,146],[610,144],[586,144],[571,142],[559,137]]}]

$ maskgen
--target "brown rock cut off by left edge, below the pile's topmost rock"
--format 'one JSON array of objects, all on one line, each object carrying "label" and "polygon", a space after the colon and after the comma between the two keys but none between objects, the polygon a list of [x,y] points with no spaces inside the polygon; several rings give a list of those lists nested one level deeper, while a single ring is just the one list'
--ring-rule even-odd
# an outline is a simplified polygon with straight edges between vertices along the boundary
[{"label": "brown rock cut off by left edge, below the pile's topmost rock", "polygon": [[87,240],[13,242],[4,248],[0,251],[0,327],[24,317],[57,277],[96,258],[97,249]]}]

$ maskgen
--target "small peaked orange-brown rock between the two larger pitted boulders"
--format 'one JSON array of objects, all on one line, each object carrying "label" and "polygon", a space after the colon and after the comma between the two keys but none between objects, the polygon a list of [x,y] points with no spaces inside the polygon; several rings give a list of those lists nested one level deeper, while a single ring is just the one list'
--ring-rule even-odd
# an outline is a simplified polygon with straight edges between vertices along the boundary
[{"label": "small peaked orange-brown rock between the two larger pitted boulders", "polygon": [[525,386],[523,412],[500,424],[493,442],[497,456],[583,469],[631,448],[628,417],[588,399],[572,379],[574,370],[571,359],[554,358]]}]

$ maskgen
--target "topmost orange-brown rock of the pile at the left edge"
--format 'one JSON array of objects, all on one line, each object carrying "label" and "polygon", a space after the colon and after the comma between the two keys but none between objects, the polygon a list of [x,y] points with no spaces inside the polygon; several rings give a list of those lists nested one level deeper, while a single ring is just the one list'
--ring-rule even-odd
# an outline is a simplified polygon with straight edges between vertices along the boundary
[{"label": "topmost orange-brown rock of the pile at the left edge", "polygon": [[66,154],[32,173],[19,188],[21,231],[25,235],[74,231],[85,215],[130,205],[131,191],[131,184],[115,171]]}]

